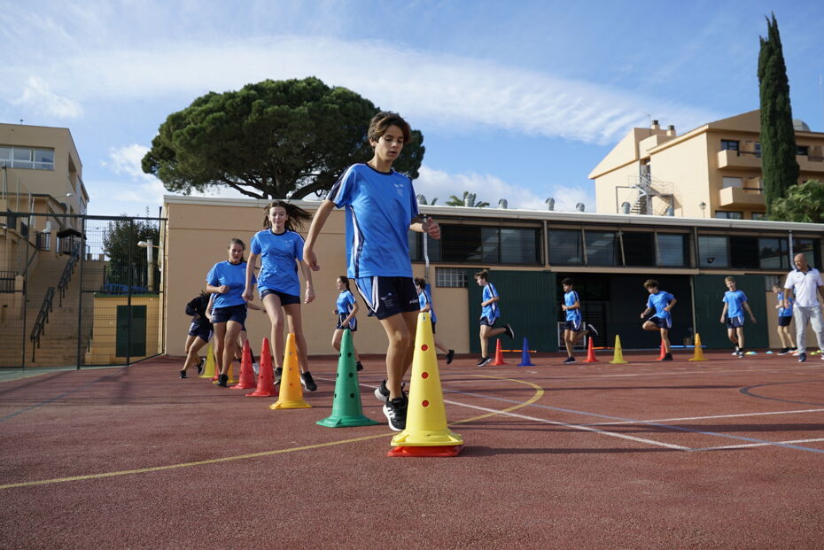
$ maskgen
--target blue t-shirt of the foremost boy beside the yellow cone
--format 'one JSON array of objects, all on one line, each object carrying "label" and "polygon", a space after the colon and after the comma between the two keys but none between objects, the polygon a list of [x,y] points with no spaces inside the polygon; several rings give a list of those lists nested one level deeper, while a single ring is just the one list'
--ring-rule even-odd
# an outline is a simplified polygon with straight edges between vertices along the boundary
[{"label": "blue t-shirt of the foremost boy beside the yellow cone", "polygon": [[418,216],[415,190],[405,175],[355,164],[327,200],[346,207],[346,275],[411,277],[408,231]]}]

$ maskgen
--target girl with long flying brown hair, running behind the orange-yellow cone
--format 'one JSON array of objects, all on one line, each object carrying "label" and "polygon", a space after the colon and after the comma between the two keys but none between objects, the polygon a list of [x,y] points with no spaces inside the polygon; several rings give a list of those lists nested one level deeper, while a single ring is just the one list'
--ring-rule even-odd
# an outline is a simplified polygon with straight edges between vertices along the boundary
[{"label": "girl with long flying brown hair, running behind the orange-yellow cone", "polygon": [[300,383],[308,391],[317,390],[317,384],[309,372],[307,341],[303,336],[303,321],[300,316],[300,280],[298,266],[306,280],[304,304],[315,299],[312,272],[303,264],[303,237],[298,229],[304,221],[311,219],[307,211],[284,200],[276,200],[263,208],[263,230],[252,237],[249,263],[246,267],[243,298],[247,302],[254,299],[254,267],[260,256],[258,291],[260,301],[272,323],[271,342],[275,347],[275,383],[280,383],[283,375],[284,316],[286,329],[295,335],[295,347],[300,365]]}]

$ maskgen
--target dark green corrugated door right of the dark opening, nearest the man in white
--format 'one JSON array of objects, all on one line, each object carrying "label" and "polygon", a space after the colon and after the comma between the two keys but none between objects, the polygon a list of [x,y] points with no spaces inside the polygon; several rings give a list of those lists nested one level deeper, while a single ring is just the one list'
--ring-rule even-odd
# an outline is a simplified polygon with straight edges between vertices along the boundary
[{"label": "dark green corrugated door right of the dark opening, nearest the man in white", "polygon": [[[727,275],[695,275],[693,277],[696,297],[696,331],[701,335],[701,343],[708,348],[731,348],[727,337],[727,326],[721,324],[721,310],[724,309],[724,292]],[[769,326],[766,321],[766,281],[764,275],[735,275],[738,290],[747,295],[756,324],[745,315],[744,344],[748,349],[767,348],[770,345]]]}]

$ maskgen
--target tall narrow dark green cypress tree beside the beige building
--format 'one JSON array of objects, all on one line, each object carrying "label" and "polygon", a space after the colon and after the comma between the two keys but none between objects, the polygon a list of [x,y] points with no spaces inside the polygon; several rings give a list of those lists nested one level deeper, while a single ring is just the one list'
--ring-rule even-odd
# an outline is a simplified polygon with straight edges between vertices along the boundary
[{"label": "tall narrow dark green cypress tree beside the beige building", "polygon": [[758,89],[761,109],[761,174],[764,182],[766,213],[773,202],[787,196],[787,190],[798,182],[796,132],[789,105],[789,81],[781,36],[775,14],[766,19],[767,37],[759,36]]}]

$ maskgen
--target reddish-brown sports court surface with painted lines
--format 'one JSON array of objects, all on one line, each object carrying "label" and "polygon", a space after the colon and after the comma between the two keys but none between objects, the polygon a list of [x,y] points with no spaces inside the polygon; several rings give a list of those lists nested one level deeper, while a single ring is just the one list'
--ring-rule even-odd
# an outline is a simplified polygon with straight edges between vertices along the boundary
[{"label": "reddish-brown sports court surface with painted lines", "polygon": [[[474,368],[440,375],[455,458],[393,432],[177,379],[179,361],[0,383],[2,548],[821,548],[824,361]],[[364,413],[383,420],[364,360]]]}]

